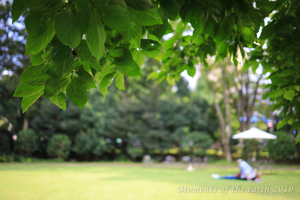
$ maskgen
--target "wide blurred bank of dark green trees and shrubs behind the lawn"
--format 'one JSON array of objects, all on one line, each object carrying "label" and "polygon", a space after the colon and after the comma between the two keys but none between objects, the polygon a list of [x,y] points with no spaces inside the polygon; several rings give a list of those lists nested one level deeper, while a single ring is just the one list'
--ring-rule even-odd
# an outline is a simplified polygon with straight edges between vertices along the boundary
[{"label": "wide blurred bank of dark green trees and shrubs behind the lawn", "polygon": [[[145,74],[151,71],[151,61],[147,63]],[[175,94],[166,83],[146,81],[146,76],[126,82],[138,86],[128,87],[123,94],[116,93],[113,83],[105,98],[97,89],[90,90],[82,111],[68,99],[65,111],[47,99],[41,101],[30,123],[38,137],[43,138],[35,155],[47,157],[45,151],[55,133],[71,139],[70,159],[139,160],[145,154],[169,154],[171,148],[179,150],[172,152],[174,155],[180,151],[191,155],[194,148],[198,155],[205,155],[216,130],[214,111],[204,100],[190,97],[187,82],[177,82],[179,90]],[[122,143],[116,139],[122,139]]]}]

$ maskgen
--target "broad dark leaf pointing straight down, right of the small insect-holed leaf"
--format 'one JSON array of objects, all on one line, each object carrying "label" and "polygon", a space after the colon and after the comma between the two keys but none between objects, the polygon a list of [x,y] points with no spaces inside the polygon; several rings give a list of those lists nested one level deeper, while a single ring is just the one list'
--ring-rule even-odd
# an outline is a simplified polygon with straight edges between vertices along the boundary
[{"label": "broad dark leaf pointing straight down, right of the small insect-holed leaf", "polygon": [[82,110],[83,106],[88,101],[88,91],[82,80],[73,76],[73,79],[67,85],[66,91],[69,99]]}]

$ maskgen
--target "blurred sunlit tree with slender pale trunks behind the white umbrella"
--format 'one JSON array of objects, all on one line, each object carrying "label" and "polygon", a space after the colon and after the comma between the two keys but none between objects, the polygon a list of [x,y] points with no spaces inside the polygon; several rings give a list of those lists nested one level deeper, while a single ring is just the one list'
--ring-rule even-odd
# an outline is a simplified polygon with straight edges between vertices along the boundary
[{"label": "blurred sunlit tree with slender pale trunks behind the white umbrella", "polygon": [[[221,142],[226,160],[231,162],[229,142],[233,131],[232,121],[238,120],[240,131],[244,131],[244,127],[247,130],[250,128],[250,119],[257,103],[258,88],[261,88],[260,80],[263,76],[255,73],[258,65],[255,69],[252,67],[251,72],[250,69],[243,70],[239,64],[235,67],[227,58],[223,62],[215,63],[214,59],[208,62],[208,68],[202,68],[202,78],[211,90],[219,118]],[[261,89],[260,92],[262,91]]]}]

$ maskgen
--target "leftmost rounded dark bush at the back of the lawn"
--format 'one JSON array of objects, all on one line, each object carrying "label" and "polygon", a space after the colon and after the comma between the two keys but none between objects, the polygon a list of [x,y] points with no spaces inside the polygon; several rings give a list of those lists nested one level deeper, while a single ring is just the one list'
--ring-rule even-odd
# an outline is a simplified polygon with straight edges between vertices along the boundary
[{"label": "leftmost rounded dark bush at the back of the lawn", "polygon": [[19,154],[31,157],[38,150],[38,136],[32,129],[19,131],[15,149]]}]

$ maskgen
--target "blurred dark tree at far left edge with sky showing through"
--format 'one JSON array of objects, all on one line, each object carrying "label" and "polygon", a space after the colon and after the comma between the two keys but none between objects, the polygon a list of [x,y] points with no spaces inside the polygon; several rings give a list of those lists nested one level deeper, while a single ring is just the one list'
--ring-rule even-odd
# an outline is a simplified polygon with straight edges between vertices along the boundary
[{"label": "blurred dark tree at far left edge with sky showing through", "polygon": [[24,17],[12,24],[11,3],[0,1],[0,118],[6,119],[4,124],[0,123],[0,132],[8,137],[10,151],[12,136],[22,129],[24,121],[28,122],[26,114],[22,115],[21,98],[12,96],[20,75],[30,65],[29,56],[24,56],[27,35]]}]

